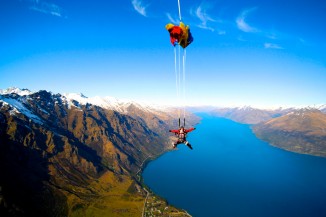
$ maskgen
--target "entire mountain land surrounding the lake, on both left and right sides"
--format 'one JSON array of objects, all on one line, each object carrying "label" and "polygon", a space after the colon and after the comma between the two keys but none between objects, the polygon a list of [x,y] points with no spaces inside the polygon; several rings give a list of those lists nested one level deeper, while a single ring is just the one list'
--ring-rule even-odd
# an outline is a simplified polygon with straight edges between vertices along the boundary
[{"label": "entire mountain land surrounding the lake, on both left and right sides", "polygon": [[[188,110],[250,124],[273,146],[326,157],[325,105]],[[0,90],[0,215],[189,216],[150,197],[140,176],[148,160],[172,148],[177,114],[113,97]]]}]

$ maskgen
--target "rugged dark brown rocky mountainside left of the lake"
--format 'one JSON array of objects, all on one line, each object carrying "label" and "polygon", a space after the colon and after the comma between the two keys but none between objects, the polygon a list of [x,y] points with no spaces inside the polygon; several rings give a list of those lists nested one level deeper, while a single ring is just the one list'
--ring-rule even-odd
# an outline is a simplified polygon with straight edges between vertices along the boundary
[{"label": "rugged dark brown rocky mountainside left of the lake", "polygon": [[47,91],[0,94],[1,216],[140,215],[136,173],[169,148],[171,114]]}]

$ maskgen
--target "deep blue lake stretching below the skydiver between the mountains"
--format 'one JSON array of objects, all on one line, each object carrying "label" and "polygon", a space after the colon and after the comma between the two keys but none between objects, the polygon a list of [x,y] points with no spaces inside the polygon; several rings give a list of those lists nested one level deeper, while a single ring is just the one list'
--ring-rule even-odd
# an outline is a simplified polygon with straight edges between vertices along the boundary
[{"label": "deep blue lake stretching below the skydiver between the mountains", "polygon": [[203,116],[179,145],[150,162],[144,182],[194,217],[325,217],[326,159],[259,140],[250,126]]}]

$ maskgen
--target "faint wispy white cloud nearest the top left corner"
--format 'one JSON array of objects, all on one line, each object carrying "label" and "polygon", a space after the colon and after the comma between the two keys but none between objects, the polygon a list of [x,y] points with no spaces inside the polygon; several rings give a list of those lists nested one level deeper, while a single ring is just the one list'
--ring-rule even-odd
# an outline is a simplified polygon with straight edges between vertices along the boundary
[{"label": "faint wispy white cloud nearest the top left corner", "polygon": [[56,4],[42,0],[26,0],[31,3],[29,9],[57,17],[63,17],[63,10]]}]

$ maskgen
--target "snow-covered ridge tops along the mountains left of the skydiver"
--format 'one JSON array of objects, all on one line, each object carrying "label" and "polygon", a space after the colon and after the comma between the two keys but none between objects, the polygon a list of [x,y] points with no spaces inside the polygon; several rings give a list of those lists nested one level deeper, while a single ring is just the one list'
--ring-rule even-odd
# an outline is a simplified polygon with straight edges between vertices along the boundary
[{"label": "snow-covered ridge tops along the mountains left of the skydiver", "polygon": [[[33,97],[35,93],[28,89],[19,88],[8,88],[6,90],[0,90],[0,103],[1,106],[11,107],[11,114],[23,114],[27,116],[32,121],[37,123],[42,123],[41,118],[34,114],[32,110],[29,109],[29,105],[33,102]],[[46,91],[45,91],[46,92]],[[62,104],[66,108],[81,108],[82,106],[98,106],[103,109],[113,110],[122,114],[129,114],[131,116],[137,116],[142,113],[142,115],[157,116],[162,119],[172,118],[176,110],[167,106],[158,106],[149,103],[139,103],[131,100],[121,100],[114,97],[86,97],[79,93],[64,93],[64,94],[52,94],[51,92],[46,92],[56,104]],[[48,103],[49,102],[44,102]],[[46,113],[44,108],[39,106],[40,111]]]}]

